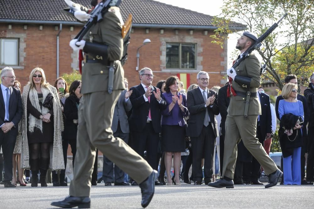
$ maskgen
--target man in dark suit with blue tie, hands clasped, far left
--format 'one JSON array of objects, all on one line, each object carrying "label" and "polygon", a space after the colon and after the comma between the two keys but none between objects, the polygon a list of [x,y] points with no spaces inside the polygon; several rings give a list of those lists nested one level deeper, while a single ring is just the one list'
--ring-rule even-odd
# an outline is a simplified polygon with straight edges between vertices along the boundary
[{"label": "man in dark suit with blue tie, hands clasped, far left", "polygon": [[13,150],[18,124],[22,118],[23,107],[21,92],[13,88],[15,80],[11,67],[5,67],[1,71],[0,91],[0,147],[2,146],[4,159],[4,187],[15,187],[11,180],[13,177]]}]

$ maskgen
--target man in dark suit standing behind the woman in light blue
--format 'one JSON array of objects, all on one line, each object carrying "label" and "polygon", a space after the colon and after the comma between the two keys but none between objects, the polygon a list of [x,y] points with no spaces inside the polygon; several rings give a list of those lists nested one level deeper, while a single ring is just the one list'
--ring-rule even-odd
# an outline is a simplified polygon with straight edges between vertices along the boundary
[{"label": "man in dark suit standing behind the woman in light blue", "polygon": [[[298,85],[298,79],[297,79],[296,75],[293,75],[293,74],[286,76],[284,79],[284,82],[285,83],[293,83],[293,84]],[[279,121],[280,121],[280,118],[279,118],[278,106],[279,106],[279,101],[282,99],[284,99],[284,98],[281,95],[278,96],[276,99],[276,104],[275,104],[276,116],[277,116]],[[304,179],[304,177],[305,177],[305,154],[307,152],[307,129],[306,129],[306,125],[310,119],[310,110],[309,110],[309,107],[307,104],[307,100],[303,95],[298,94],[297,99],[303,103],[303,110],[304,110],[304,123],[303,123],[303,128],[302,128],[303,145],[301,147],[301,184],[307,185],[308,183]],[[281,169],[283,170],[282,158],[281,158]],[[281,184],[283,184],[283,182],[284,182],[284,178],[282,178]]]}]

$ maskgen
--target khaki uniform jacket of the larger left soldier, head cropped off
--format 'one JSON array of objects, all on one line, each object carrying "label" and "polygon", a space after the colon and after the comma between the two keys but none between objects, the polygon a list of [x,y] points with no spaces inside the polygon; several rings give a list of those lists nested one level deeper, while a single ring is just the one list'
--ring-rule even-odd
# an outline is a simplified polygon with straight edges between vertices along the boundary
[{"label": "khaki uniform jacket of the larger left soldier, head cropped off", "polygon": [[[103,20],[96,23],[88,32],[84,40],[108,45],[108,60],[114,61],[114,81],[113,90],[124,90],[124,71],[119,60],[123,55],[123,39],[121,35],[122,18],[120,9],[111,7],[105,13]],[[89,59],[93,59],[89,55]],[[109,67],[101,63],[85,63],[82,69],[82,88],[81,93],[91,93],[97,91],[106,91],[108,89]]]}]

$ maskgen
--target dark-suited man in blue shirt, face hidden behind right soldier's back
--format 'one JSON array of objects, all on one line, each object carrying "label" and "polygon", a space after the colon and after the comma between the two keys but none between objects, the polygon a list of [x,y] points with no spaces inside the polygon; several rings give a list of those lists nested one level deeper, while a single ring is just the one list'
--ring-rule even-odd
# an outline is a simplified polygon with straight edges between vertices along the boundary
[{"label": "dark-suited man in blue shirt, face hidden behind right soldier's back", "polygon": [[[263,88],[262,88],[263,90]],[[265,139],[273,136],[272,114],[270,110],[270,97],[258,91],[257,94],[261,103],[262,114],[257,118],[256,136],[258,141],[264,146]],[[250,154],[252,156],[252,154]],[[253,157],[252,162],[243,165],[243,180],[246,184],[263,185],[258,179],[261,177],[261,164]]]}]

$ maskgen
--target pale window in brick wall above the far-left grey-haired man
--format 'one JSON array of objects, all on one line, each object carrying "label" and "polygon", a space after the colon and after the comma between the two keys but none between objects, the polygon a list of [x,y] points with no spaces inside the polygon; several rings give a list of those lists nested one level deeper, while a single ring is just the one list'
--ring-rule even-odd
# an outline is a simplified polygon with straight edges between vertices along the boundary
[{"label": "pale window in brick wall above the far-left grey-haired man", "polygon": [[19,39],[0,38],[0,65],[19,65]]}]

